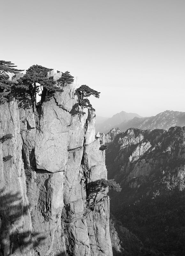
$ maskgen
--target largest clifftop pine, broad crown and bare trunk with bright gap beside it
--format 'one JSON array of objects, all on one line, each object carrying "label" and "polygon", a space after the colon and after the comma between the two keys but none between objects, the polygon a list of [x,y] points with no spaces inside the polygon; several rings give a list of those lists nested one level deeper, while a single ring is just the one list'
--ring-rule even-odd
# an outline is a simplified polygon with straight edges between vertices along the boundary
[{"label": "largest clifftop pine, broad crown and bare trunk with bright gap beside it", "polygon": [[19,79],[19,84],[16,85],[16,91],[28,92],[32,99],[33,111],[36,112],[36,95],[42,90],[41,102],[44,101],[47,93],[63,92],[60,87],[56,86],[56,81],[48,79],[46,74],[50,68],[45,68],[40,65],[33,65],[26,70],[26,75]]}]

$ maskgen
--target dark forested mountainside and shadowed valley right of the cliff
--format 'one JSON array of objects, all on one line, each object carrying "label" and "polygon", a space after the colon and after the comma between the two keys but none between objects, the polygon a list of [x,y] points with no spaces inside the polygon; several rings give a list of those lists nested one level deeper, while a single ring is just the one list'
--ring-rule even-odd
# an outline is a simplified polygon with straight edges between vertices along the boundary
[{"label": "dark forested mountainside and shadowed valley right of the cliff", "polygon": [[[122,188],[110,191],[122,255],[184,255],[185,127],[118,133],[108,144],[106,166]],[[120,227],[136,236],[130,250],[130,233]]]}]

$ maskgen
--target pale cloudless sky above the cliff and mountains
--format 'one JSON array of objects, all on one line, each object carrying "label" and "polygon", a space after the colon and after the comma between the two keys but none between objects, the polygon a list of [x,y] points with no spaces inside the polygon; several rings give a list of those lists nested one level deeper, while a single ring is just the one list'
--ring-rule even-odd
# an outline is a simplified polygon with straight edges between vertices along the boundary
[{"label": "pale cloudless sky above the cliff and mountains", "polygon": [[78,76],[98,116],[185,112],[185,0],[0,0],[0,59]]}]

